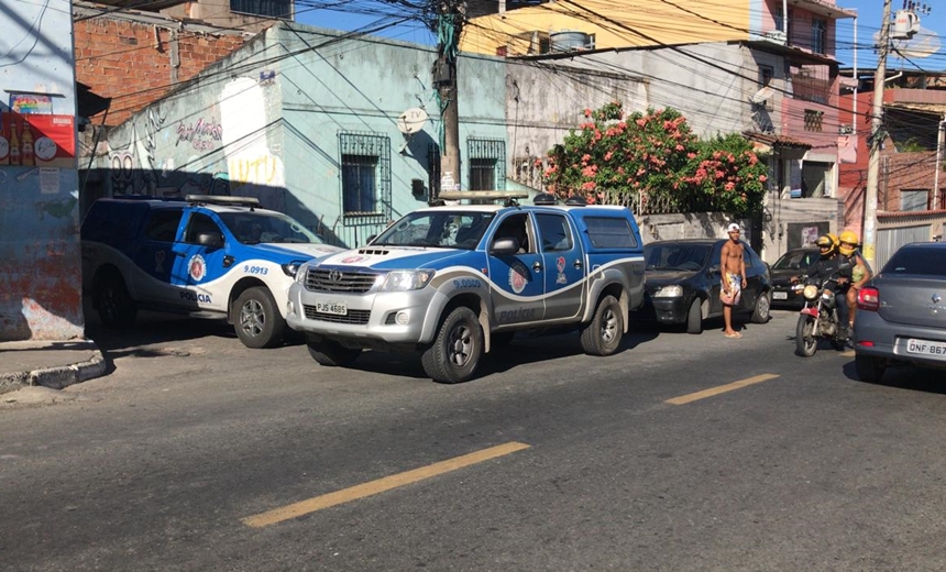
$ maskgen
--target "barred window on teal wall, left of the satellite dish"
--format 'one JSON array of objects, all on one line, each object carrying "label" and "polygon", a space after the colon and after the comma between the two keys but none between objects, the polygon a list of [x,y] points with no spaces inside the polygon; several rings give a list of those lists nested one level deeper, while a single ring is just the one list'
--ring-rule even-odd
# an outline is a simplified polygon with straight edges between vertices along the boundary
[{"label": "barred window on teal wall, left of the satellite dish", "polygon": [[391,211],[391,141],[370,133],[340,133],[342,212],[345,216]]}]

